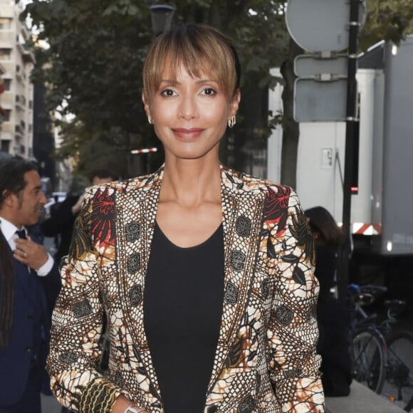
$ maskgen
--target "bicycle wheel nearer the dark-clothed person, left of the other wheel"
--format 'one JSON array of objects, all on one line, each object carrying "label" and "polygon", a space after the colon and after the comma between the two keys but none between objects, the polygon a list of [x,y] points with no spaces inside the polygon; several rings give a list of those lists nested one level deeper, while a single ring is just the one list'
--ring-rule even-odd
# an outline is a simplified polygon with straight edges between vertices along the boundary
[{"label": "bicycle wheel nearer the dark-clothed person, left of the other wheel", "polygon": [[387,351],[382,334],[377,330],[360,330],[352,339],[352,377],[380,394],[385,382]]}]

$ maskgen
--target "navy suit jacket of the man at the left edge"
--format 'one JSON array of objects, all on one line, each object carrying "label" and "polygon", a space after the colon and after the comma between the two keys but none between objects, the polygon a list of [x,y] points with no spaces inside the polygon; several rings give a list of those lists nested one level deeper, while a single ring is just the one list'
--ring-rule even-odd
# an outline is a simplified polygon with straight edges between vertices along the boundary
[{"label": "navy suit jacket of the man at the left edge", "polygon": [[[0,236],[3,236],[1,232]],[[12,260],[16,274],[14,315],[10,343],[0,350],[0,406],[19,401],[33,364],[41,370],[42,390],[46,392],[49,388],[44,367],[50,339],[51,311],[61,287],[56,262],[47,276],[39,277],[16,259]]]}]

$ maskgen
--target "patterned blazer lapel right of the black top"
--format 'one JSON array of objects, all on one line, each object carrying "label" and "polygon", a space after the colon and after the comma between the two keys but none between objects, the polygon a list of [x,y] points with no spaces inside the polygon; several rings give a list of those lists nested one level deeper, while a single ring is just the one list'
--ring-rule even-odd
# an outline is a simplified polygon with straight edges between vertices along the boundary
[{"label": "patterned blazer lapel right of the black top", "polygon": [[224,303],[221,329],[208,394],[233,364],[239,326],[246,312],[258,253],[263,202],[242,190],[244,183],[221,169],[224,226]]}]

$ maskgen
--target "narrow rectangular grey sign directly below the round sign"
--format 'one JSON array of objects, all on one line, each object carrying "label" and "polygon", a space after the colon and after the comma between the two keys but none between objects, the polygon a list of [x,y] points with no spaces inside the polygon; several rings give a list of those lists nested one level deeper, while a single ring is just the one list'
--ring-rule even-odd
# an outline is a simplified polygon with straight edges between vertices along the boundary
[{"label": "narrow rectangular grey sign directly below the round sign", "polygon": [[294,60],[294,73],[310,77],[330,73],[332,78],[347,76],[347,55],[324,58],[320,54],[300,55]]}]

